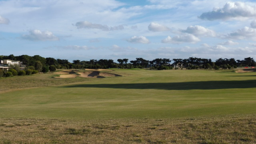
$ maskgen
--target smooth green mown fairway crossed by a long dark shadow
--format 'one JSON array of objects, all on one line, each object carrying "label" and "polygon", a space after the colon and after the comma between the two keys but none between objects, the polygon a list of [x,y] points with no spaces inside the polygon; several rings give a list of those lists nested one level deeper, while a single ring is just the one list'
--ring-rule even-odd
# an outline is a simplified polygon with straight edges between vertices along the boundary
[{"label": "smooth green mown fairway crossed by a long dark shadow", "polygon": [[2,93],[0,117],[181,118],[256,112],[254,72],[127,70],[116,74],[123,76]]}]

